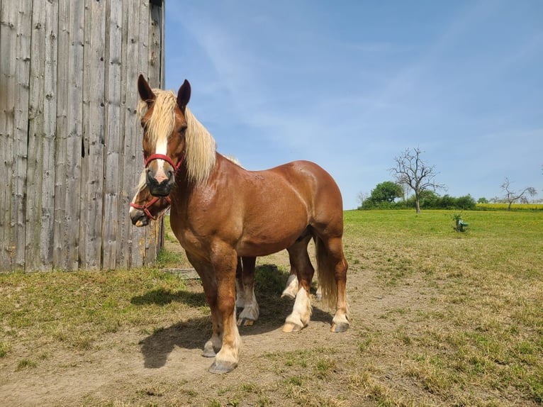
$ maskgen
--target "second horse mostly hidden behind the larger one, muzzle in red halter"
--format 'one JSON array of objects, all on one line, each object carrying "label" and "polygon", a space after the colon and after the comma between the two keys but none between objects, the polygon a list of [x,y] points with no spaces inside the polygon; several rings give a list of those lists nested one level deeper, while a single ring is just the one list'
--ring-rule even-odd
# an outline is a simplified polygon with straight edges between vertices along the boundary
[{"label": "second horse mostly hidden behind the larger one, muzzle in red halter", "polygon": [[[169,196],[152,196],[145,184],[145,170],[140,177],[140,184],[138,184],[137,192],[130,202],[130,220],[133,225],[138,228],[146,226],[150,221],[156,221],[159,216],[162,216],[172,204]],[[241,311],[240,316],[237,318],[238,326],[250,326],[259,317],[259,306],[257,298],[254,295],[254,267],[256,264],[256,257],[238,257],[236,267],[236,301],[235,306]],[[293,271],[291,270],[291,276]],[[289,281],[291,278],[289,277]],[[289,296],[293,298],[291,294],[293,284],[287,284],[284,294],[281,296]]]}]

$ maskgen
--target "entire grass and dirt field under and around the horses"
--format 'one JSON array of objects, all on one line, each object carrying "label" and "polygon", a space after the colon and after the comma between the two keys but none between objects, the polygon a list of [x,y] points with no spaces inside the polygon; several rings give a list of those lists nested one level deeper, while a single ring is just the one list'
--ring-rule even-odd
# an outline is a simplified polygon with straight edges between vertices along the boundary
[{"label": "entire grass and dirt field under and around the horses", "polygon": [[[285,337],[279,324],[291,303],[279,294],[288,257],[259,259],[279,272],[257,272],[261,318],[242,330],[240,367],[223,377],[173,369],[210,329],[198,282],[162,270],[188,265],[179,250],[147,269],[0,274],[0,399],[33,405],[34,392],[50,406],[542,405],[543,213],[464,211],[465,233],[453,230],[454,214],[345,212],[353,318],[345,335],[327,335],[328,314],[315,302],[308,328]],[[177,337],[189,333],[194,347]],[[172,336],[177,345],[160,354],[160,369],[139,362],[147,344],[165,347]],[[123,373],[125,359],[138,374]],[[93,387],[96,372],[110,379]],[[88,382],[79,391],[74,375]]]}]

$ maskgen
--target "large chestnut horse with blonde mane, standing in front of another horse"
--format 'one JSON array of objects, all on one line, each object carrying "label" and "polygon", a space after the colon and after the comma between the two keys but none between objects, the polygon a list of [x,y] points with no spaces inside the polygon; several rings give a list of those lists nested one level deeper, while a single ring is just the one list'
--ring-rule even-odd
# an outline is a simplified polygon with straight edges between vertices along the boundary
[{"label": "large chestnut horse with blonde mane, standing in front of another horse", "polygon": [[191,85],[177,95],[151,89],[138,78],[138,117],[143,128],[145,182],[153,196],[172,201],[170,224],[200,276],[213,329],[203,355],[208,371],[237,367],[240,335],[235,320],[237,257],[269,255],[286,248],[298,291],[284,332],[310,320],[310,284],[315,269],[308,242],[315,241],[323,301],[335,306],[330,330],[349,328],[348,264],[343,252],[342,196],[334,179],[309,161],[248,171],[216,151],[215,139],[187,107]]}]

